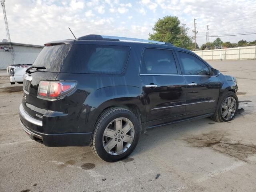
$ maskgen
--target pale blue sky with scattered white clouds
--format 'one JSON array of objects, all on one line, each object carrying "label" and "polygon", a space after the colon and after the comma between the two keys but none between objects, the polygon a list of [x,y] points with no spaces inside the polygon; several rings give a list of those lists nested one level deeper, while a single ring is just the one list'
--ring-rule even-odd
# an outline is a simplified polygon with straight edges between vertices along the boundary
[{"label": "pale blue sky with scattered white clouds", "polygon": [[[43,45],[87,34],[147,39],[158,18],[178,16],[193,36],[256,32],[256,0],[5,0],[12,42]],[[256,34],[220,37],[256,40]],[[0,40],[6,39],[0,10]],[[216,37],[210,37],[209,41]],[[200,45],[206,38],[197,38]]]}]

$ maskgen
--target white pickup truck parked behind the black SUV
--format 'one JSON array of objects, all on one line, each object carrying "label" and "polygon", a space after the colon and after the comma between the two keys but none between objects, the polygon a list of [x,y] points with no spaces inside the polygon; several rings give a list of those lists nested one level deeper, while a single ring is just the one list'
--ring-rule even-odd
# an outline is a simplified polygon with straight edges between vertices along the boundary
[{"label": "white pickup truck parked behind the black SUV", "polygon": [[23,83],[23,75],[26,73],[26,70],[31,67],[31,65],[32,64],[8,66],[6,70],[10,77],[10,83],[12,85],[15,83]]}]

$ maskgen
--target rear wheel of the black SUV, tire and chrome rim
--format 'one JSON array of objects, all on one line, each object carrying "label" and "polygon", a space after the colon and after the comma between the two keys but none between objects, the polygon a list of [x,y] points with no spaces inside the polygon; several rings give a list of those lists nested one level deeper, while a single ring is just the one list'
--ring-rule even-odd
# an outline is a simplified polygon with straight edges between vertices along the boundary
[{"label": "rear wheel of the black SUV, tire and chrome rim", "polygon": [[90,147],[107,162],[116,162],[129,156],[140,138],[138,118],[124,108],[109,108],[98,118]]}]

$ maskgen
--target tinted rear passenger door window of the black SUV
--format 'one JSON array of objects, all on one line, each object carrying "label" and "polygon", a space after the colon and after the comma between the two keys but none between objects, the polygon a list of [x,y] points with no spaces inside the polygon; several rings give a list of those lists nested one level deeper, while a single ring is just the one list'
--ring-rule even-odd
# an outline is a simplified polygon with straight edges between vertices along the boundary
[{"label": "tinted rear passenger door window of the black SUV", "polygon": [[147,48],[143,52],[141,74],[178,74],[172,51]]}]

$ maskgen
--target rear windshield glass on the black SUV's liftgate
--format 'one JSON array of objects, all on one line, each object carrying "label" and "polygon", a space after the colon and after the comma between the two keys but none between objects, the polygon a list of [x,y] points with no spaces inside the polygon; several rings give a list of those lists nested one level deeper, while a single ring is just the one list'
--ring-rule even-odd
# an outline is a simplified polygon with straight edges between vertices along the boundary
[{"label": "rear windshield glass on the black SUV's liftgate", "polygon": [[46,69],[40,69],[41,71],[60,72],[62,64],[71,48],[71,44],[44,47],[33,65],[46,67]]}]

